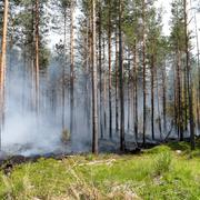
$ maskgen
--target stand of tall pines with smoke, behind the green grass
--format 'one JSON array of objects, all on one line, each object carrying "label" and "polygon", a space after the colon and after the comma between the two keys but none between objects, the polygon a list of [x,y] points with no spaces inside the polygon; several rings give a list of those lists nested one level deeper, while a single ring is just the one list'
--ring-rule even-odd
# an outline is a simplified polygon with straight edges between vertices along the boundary
[{"label": "stand of tall pines with smoke, behind the green grass", "polygon": [[97,153],[102,140],[173,138],[194,149],[198,9],[173,0],[167,36],[154,0],[1,1],[1,148]]}]

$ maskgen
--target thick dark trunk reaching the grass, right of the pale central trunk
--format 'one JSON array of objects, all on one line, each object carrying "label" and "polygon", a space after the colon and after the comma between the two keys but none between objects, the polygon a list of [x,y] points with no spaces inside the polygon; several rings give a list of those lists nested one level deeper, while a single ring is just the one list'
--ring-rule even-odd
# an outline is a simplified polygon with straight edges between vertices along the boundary
[{"label": "thick dark trunk reaching the grass, right of the pale central trunk", "polygon": [[122,0],[119,0],[120,149],[124,151],[124,71],[122,49]]}]

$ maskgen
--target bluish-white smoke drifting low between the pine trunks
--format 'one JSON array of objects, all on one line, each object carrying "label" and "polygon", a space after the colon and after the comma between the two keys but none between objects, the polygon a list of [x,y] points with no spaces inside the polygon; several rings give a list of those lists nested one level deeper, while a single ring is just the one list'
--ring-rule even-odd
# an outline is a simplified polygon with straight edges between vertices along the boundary
[{"label": "bluish-white smoke drifting low between the pine trunks", "polygon": [[[13,50],[8,53],[8,70],[6,82],[6,122],[4,129],[1,132],[2,151],[9,154],[46,154],[46,153],[71,153],[71,152],[88,152],[91,150],[92,138],[92,120],[91,120],[91,79],[84,68],[76,67],[76,86],[74,86],[74,117],[73,132],[70,133],[68,142],[62,141],[63,124],[69,132],[70,129],[70,87],[69,74],[70,64],[64,66],[64,107],[62,103],[62,84],[63,84],[63,62],[54,58],[44,71],[40,72],[40,109],[39,113],[34,110],[34,83],[32,80],[31,64],[24,62],[23,54],[19,50]],[[108,87],[108,86],[107,86]],[[148,91],[150,84],[148,86]],[[108,90],[107,90],[108,91]],[[100,96],[100,92],[98,93]],[[171,130],[171,136],[174,138],[174,127],[171,126],[171,118],[168,118],[167,132],[161,133],[159,130],[158,111],[158,94],[156,90],[154,100],[154,132],[156,139],[164,139]],[[108,93],[107,93],[108,96]],[[129,96],[132,96],[129,91]],[[150,94],[147,100],[147,141],[151,140],[151,110]],[[130,98],[132,99],[132,98]],[[161,98],[160,98],[161,99]],[[159,99],[159,101],[161,101]],[[124,91],[124,124],[127,142],[136,143],[134,137],[134,110],[133,101],[129,102],[128,89]],[[103,128],[103,139],[100,147],[103,150],[119,149],[119,131],[116,131],[116,99],[114,89],[112,90],[112,136],[109,138],[109,103],[104,103],[106,121],[100,128]],[[129,106],[130,103],[130,106]],[[160,103],[160,110],[162,110]],[[142,141],[142,88],[138,91],[138,117],[139,117],[139,141]],[[100,118],[103,118],[100,112],[99,98],[99,123]],[[161,117],[161,116],[160,116]],[[62,119],[63,118],[63,119]],[[160,121],[161,126],[163,121]],[[171,129],[172,128],[172,129]],[[100,132],[100,131],[99,131]],[[100,137],[100,136],[99,136]],[[102,147],[103,146],[103,147]]]}]

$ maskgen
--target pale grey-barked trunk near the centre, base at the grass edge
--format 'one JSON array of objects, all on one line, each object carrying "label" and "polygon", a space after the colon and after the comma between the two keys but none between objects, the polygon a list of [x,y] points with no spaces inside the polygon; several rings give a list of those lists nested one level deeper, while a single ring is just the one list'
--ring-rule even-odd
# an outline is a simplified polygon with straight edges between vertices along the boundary
[{"label": "pale grey-barked trunk near the centre, base at the grass edge", "polygon": [[92,152],[98,153],[98,87],[96,54],[96,0],[92,0]]}]

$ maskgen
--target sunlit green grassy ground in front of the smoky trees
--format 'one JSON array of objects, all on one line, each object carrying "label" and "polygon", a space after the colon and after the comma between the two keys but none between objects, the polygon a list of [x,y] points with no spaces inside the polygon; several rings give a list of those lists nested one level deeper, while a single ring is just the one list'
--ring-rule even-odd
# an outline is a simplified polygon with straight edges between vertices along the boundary
[{"label": "sunlit green grassy ground in front of the smoky trees", "polygon": [[0,171],[0,199],[200,199],[200,141],[172,142],[140,154],[40,159]]}]

